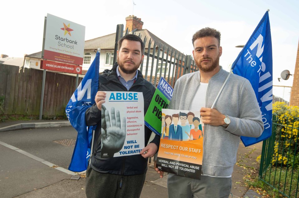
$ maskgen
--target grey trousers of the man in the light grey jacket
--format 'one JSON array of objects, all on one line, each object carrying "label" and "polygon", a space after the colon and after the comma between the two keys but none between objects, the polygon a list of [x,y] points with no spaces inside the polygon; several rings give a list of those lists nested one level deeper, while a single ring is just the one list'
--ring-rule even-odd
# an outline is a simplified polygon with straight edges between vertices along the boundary
[{"label": "grey trousers of the man in the light grey jacket", "polygon": [[201,176],[201,180],[168,173],[168,197],[220,198],[229,197],[232,178],[213,178]]}]

